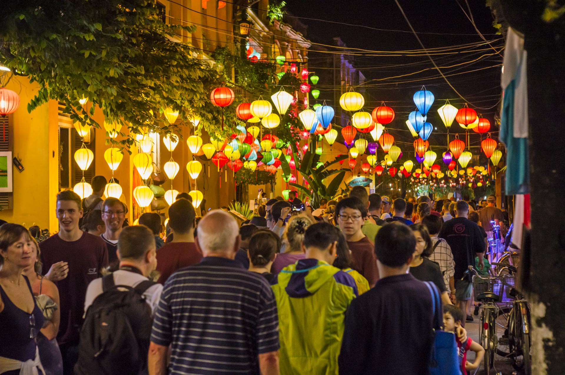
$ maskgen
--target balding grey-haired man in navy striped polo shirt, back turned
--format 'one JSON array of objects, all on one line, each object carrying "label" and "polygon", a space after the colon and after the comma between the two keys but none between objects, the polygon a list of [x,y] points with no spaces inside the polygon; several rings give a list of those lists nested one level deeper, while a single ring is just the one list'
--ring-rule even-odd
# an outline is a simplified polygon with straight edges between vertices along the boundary
[{"label": "balding grey-haired man in navy striped polo shirt, back turned", "polygon": [[[204,258],[173,273],[155,313],[149,374],[279,374],[279,318],[266,279],[233,260],[236,220],[202,218],[195,244]],[[167,351],[171,359],[167,369]]]}]

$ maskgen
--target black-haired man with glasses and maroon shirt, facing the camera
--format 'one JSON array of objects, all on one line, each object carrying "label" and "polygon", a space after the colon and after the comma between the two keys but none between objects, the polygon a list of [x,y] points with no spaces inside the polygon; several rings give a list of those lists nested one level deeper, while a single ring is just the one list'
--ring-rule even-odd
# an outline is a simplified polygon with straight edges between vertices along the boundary
[{"label": "black-haired man with glasses and maroon shirt, facing the camera", "polygon": [[367,205],[357,197],[344,198],[336,205],[337,224],[344,232],[353,257],[354,270],[367,279],[371,288],[379,280],[379,270],[373,242],[363,234],[361,227],[367,216]]}]

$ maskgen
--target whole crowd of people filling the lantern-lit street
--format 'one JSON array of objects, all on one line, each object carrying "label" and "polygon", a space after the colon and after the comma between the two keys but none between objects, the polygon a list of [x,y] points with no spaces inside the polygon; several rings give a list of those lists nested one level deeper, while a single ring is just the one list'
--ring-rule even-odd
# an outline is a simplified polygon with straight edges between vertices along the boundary
[{"label": "whole crowd of people filling the lantern-lit street", "polygon": [[39,244],[0,227],[0,374],[425,374],[429,285],[462,373],[481,362],[464,271],[485,266],[496,197],[473,221],[465,199],[354,187],[311,210],[293,193],[240,225],[181,193],[163,231],[155,213],[128,225],[94,179],[94,196],[58,194],[59,232]]}]

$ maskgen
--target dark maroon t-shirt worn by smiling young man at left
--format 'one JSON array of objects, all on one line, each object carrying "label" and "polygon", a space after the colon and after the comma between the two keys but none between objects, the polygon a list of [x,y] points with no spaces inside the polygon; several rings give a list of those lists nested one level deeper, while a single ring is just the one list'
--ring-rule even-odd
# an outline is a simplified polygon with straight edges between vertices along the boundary
[{"label": "dark maroon t-shirt worn by smiling young man at left", "polygon": [[59,345],[77,342],[82,325],[84,298],[90,281],[101,277],[101,270],[108,266],[106,243],[98,236],[82,233],[76,241],[62,240],[53,235],[39,244],[44,275],[57,262],[68,262],[69,273],[57,281],[59,289],[61,323],[57,341]]}]

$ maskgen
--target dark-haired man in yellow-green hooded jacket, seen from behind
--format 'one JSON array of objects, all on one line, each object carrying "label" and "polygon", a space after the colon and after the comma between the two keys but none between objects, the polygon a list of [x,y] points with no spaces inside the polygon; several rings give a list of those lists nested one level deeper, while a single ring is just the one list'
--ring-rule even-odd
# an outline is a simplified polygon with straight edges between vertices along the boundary
[{"label": "dark-haired man in yellow-green hooded jacket, seen from behind", "polygon": [[357,286],[332,263],[340,230],[328,223],[308,227],[306,259],[285,267],[272,281],[279,311],[280,373],[337,375],[345,312]]}]

